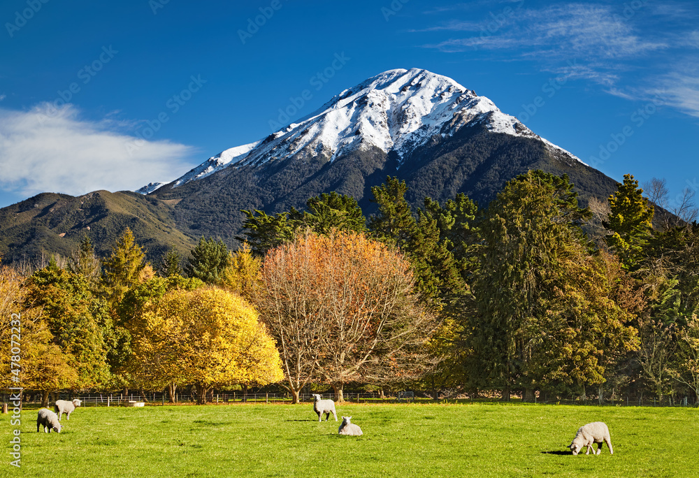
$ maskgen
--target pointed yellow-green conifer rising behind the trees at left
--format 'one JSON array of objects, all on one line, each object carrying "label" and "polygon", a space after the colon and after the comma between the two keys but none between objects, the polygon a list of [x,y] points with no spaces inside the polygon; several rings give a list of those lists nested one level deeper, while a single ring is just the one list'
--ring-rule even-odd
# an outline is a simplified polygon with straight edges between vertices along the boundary
[{"label": "pointed yellow-green conifer rising behind the trees at left", "polygon": [[138,284],[141,270],[145,267],[145,254],[127,227],[117,239],[111,256],[103,261],[103,287],[110,305],[115,305],[126,291]]}]

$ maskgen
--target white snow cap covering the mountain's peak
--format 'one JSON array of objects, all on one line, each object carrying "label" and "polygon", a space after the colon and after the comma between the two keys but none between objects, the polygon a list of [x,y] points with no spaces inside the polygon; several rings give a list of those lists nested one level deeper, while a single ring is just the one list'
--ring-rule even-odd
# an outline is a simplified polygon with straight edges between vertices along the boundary
[{"label": "white snow cap covering the mountain's peak", "polygon": [[[353,148],[394,151],[402,160],[435,135],[452,136],[462,127],[475,124],[483,124],[495,133],[540,138],[519,119],[500,111],[490,99],[451,78],[418,68],[384,71],[345,89],[314,113],[264,140],[209,158],[176,180],[173,187],[228,166],[259,166],[296,155],[326,154],[334,160]],[[547,149],[579,161],[540,139]]]}]

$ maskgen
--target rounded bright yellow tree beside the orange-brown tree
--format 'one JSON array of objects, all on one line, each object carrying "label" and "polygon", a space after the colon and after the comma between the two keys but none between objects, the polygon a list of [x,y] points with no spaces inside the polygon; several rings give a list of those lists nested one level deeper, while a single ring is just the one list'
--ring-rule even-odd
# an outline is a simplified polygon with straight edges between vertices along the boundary
[{"label": "rounded bright yellow tree beside the orange-brown tree", "polygon": [[257,312],[222,289],[171,291],[144,307],[133,330],[131,369],[151,386],[195,384],[199,403],[214,386],[280,381],[279,352]]}]

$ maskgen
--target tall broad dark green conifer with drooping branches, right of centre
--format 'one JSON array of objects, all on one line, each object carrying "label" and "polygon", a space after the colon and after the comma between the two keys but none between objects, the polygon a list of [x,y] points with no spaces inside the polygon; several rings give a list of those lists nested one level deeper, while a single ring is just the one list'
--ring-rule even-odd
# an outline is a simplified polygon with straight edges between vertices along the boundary
[{"label": "tall broad dark green conifer with drooping branches, right of centre", "polygon": [[489,205],[474,286],[478,313],[469,326],[476,385],[497,386],[506,400],[513,386],[531,393],[530,341],[542,332],[559,261],[571,244],[582,241],[578,224],[589,215],[578,208],[567,176],[542,171],[507,182]]}]

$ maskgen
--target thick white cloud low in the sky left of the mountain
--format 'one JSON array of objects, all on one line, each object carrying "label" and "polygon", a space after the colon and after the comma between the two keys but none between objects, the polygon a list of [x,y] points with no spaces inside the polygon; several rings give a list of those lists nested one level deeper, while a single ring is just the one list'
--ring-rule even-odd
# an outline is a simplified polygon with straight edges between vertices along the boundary
[{"label": "thick white cloud low in the sky left of the mountain", "polygon": [[134,143],[119,126],[110,118],[81,119],[71,105],[60,110],[48,104],[29,111],[0,108],[0,188],[26,195],[134,190],[151,181],[173,180],[191,167],[186,158],[192,147],[168,140]]}]

